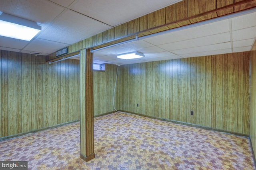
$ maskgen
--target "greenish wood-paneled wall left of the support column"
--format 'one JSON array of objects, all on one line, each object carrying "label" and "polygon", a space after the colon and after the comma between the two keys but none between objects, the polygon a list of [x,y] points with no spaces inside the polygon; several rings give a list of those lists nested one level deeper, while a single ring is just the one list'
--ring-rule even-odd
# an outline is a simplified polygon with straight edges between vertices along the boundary
[{"label": "greenish wood-paneled wall left of the support column", "polygon": [[0,51],[0,137],[79,120],[79,61]]}]

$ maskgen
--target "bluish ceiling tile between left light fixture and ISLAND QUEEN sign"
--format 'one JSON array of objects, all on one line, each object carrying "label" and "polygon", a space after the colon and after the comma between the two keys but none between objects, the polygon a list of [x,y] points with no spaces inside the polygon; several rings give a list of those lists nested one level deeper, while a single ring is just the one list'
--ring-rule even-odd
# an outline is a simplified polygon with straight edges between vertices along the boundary
[{"label": "bluish ceiling tile between left light fixture and ISLAND QUEEN sign", "polygon": [[24,50],[50,54],[56,52],[56,49],[62,49],[67,46],[68,44],[36,38]]}]

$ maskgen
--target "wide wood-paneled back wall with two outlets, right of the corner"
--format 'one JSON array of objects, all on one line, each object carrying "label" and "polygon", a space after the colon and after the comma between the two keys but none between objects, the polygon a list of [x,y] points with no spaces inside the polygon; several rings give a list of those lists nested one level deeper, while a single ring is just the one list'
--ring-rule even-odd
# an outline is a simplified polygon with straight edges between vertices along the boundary
[{"label": "wide wood-paneled back wall with two outlets, right of the corner", "polygon": [[249,69],[249,52],[122,65],[118,109],[248,135]]}]

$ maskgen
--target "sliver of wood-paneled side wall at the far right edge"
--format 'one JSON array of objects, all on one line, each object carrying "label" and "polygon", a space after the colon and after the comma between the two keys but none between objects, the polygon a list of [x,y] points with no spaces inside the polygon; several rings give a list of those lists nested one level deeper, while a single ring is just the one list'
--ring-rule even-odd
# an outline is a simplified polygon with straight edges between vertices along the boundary
[{"label": "sliver of wood-paneled side wall at the far right edge", "polygon": [[256,157],[256,41],[250,51],[250,138]]}]

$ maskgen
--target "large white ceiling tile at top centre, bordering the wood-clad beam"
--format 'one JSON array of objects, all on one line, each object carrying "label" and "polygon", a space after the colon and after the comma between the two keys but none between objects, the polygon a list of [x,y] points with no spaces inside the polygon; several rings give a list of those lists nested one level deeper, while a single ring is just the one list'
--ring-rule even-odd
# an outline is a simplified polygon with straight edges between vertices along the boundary
[{"label": "large white ceiling tile at top centre, bordering the wood-clad beam", "polygon": [[181,0],[76,0],[70,9],[116,26],[179,1]]}]

